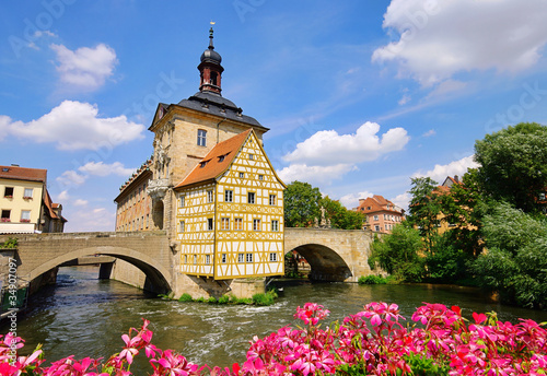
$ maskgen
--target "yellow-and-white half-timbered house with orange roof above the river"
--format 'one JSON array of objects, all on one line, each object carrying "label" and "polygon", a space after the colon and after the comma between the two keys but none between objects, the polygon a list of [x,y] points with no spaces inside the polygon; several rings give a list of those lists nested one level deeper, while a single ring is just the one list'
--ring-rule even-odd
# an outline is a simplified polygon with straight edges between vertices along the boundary
[{"label": "yellow-and-white half-timbered house with orange roof above the river", "polygon": [[283,189],[249,129],[218,143],[175,188],[181,272],[283,274]]}]

